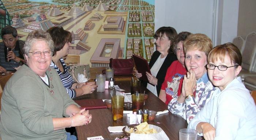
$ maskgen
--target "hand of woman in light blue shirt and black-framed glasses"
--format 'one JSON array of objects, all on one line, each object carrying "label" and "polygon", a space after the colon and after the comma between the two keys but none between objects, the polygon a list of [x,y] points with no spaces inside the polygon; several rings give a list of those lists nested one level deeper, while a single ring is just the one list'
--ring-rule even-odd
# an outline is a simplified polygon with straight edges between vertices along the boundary
[{"label": "hand of woman in light blue shirt and black-framed glasses", "polygon": [[214,140],[215,128],[209,123],[199,123],[202,128],[203,136],[205,140]]}]

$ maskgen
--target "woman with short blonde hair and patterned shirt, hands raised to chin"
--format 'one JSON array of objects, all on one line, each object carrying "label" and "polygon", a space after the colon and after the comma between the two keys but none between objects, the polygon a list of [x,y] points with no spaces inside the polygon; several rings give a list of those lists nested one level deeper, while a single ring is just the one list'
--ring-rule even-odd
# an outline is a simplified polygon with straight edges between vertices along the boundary
[{"label": "woman with short blonde hair and patterned shirt, hands raised to chin", "polygon": [[192,34],[183,43],[185,65],[181,95],[176,95],[168,104],[170,112],[182,116],[187,122],[211,99],[215,88],[209,81],[205,65],[212,42],[204,34]]}]

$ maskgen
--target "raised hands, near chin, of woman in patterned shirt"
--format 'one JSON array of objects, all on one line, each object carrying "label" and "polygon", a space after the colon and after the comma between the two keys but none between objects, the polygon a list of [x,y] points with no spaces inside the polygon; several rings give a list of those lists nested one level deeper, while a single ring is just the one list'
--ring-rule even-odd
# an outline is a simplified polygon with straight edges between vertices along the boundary
[{"label": "raised hands, near chin, of woman in patterned shirt", "polygon": [[[193,70],[189,70],[187,75],[184,75],[184,80],[182,83],[182,96],[193,95],[193,92],[196,91],[196,74]],[[185,94],[185,95],[184,95]]]}]

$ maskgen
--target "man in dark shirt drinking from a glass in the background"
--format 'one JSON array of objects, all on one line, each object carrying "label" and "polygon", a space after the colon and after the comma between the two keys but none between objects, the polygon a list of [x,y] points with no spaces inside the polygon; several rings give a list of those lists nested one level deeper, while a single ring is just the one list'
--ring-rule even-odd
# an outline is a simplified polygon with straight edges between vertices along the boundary
[{"label": "man in dark shirt drinking from a glass in the background", "polygon": [[[0,73],[5,71],[13,71],[14,67],[22,65],[25,61],[23,59],[20,48],[24,46],[23,41],[18,40],[17,30],[12,26],[5,26],[1,31],[3,42],[0,43]],[[8,52],[8,59],[10,62],[5,62],[4,49],[11,48]]]}]

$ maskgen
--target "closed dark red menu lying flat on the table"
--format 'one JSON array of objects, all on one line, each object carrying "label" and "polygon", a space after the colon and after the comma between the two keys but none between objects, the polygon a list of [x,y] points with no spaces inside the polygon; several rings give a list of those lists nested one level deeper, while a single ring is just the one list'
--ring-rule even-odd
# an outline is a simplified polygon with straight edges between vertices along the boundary
[{"label": "closed dark red menu lying flat on the table", "polygon": [[107,108],[106,104],[101,99],[75,100],[75,102],[81,106],[81,109]]}]

